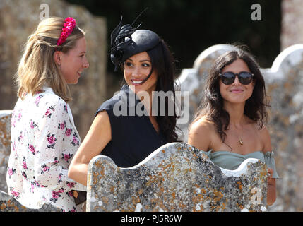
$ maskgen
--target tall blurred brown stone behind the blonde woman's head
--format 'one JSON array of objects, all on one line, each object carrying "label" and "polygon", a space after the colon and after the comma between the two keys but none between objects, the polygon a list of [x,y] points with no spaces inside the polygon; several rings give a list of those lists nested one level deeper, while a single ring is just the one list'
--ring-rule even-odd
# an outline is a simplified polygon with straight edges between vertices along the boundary
[{"label": "tall blurred brown stone behind the blonde woman's head", "polygon": [[49,6],[49,16],[76,18],[86,34],[89,69],[82,74],[77,85],[71,85],[71,110],[78,132],[83,139],[88,132],[97,107],[105,101],[107,86],[107,28],[105,18],[93,16],[83,6],[59,0],[1,0],[0,1],[0,109],[13,109],[16,103],[16,86],[13,75],[28,35],[40,22],[41,4]]}]

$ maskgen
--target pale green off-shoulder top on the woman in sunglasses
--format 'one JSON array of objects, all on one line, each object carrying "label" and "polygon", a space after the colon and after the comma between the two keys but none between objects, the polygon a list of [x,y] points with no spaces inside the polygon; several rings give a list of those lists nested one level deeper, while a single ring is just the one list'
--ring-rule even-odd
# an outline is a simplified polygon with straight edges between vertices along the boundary
[{"label": "pale green off-shoulder top on the woman in sunglasses", "polygon": [[[203,150],[202,150],[203,151]],[[273,152],[266,152],[265,154],[262,151],[255,151],[247,155],[241,155],[238,153],[232,153],[229,151],[203,151],[210,160],[218,167],[223,169],[234,170],[241,165],[241,163],[248,158],[256,158],[261,160],[266,164],[268,168],[273,169],[273,178],[279,178],[277,170],[275,169],[275,159],[273,158]]]}]

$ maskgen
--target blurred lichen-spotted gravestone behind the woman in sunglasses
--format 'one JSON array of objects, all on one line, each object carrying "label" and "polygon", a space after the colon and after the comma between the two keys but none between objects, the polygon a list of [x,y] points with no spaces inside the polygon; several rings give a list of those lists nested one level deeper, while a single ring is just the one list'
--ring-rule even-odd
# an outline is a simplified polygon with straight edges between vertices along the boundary
[{"label": "blurred lichen-spotted gravestone behind the woman in sunglasses", "polygon": [[[192,69],[179,76],[182,91],[189,91],[189,121],[178,124],[188,138],[188,126],[200,105],[203,87],[213,61],[232,49],[218,44],[203,51]],[[280,179],[276,180],[277,199],[271,211],[303,211],[303,44],[283,50],[270,69],[261,69],[270,100],[268,130]]]}]

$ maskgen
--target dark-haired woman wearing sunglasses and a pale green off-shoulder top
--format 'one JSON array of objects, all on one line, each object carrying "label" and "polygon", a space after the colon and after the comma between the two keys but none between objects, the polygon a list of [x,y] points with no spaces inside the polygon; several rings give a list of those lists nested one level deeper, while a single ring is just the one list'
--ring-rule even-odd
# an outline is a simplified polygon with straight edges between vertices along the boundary
[{"label": "dark-haired woman wearing sunglasses and a pale green off-shoulder top", "polygon": [[234,170],[247,158],[268,167],[267,203],[275,202],[275,160],[267,121],[265,83],[259,65],[239,48],[215,60],[204,99],[189,127],[188,143],[203,150],[215,165]]}]

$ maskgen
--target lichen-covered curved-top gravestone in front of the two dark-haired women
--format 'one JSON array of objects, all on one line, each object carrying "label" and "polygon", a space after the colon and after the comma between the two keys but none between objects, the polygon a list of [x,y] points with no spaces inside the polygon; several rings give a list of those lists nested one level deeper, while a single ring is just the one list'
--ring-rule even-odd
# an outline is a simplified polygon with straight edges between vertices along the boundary
[{"label": "lichen-covered curved-top gravestone in front of the two dark-haired women", "polygon": [[265,211],[267,169],[249,159],[237,170],[213,164],[186,143],[168,143],[140,164],[96,156],[88,167],[87,211]]}]

